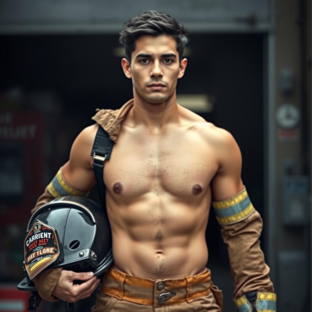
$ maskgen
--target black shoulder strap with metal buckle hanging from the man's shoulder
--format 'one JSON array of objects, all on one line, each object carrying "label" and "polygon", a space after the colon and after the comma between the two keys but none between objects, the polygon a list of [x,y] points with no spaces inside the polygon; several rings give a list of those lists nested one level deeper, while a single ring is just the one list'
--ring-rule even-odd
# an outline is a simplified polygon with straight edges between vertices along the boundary
[{"label": "black shoulder strap with metal buckle hanging from the man's shoulder", "polygon": [[99,191],[100,202],[106,213],[105,184],[103,179],[104,161],[110,159],[114,141],[110,139],[109,134],[99,126],[93,143],[91,156],[93,157],[93,171],[96,185]]}]

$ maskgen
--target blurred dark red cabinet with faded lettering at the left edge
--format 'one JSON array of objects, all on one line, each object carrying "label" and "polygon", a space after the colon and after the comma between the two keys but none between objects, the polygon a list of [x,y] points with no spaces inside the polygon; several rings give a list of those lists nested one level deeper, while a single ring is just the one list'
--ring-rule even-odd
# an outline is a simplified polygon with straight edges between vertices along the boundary
[{"label": "blurred dark red cabinet with faded lettering at the left edge", "polygon": [[43,115],[0,111],[0,226],[27,223],[42,193]]}]

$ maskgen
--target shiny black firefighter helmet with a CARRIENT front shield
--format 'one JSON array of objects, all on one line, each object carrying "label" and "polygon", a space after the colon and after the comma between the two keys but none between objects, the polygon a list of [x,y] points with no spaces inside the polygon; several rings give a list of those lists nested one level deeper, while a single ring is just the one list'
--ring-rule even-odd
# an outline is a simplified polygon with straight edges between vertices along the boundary
[{"label": "shiny black firefighter helmet with a CARRIENT front shield", "polygon": [[46,268],[63,267],[100,276],[113,265],[111,229],[96,202],[81,196],[59,197],[30,218],[24,241],[27,277],[19,290],[35,291],[31,281]]}]

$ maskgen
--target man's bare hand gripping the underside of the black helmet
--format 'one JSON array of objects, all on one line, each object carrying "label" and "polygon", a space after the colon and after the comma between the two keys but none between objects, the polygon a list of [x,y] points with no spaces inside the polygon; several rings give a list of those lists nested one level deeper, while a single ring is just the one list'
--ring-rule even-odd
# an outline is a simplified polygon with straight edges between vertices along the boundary
[{"label": "man's bare hand gripping the underside of the black helmet", "polygon": [[[74,280],[85,280],[84,283],[74,284]],[[76,273],[61,271],[61,276],[52,293],[57,298],[68,302],[76,302],[89,297],[99,285],[100,279],[93,277],[93,272]]]}]

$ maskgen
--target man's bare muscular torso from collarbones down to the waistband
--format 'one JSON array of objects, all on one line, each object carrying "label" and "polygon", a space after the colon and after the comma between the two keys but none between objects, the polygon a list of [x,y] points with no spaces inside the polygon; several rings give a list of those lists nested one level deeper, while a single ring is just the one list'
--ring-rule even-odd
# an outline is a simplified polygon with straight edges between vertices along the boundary
[{"label": "man's bare muscular torso from collarbones down to the waistband", "polygon": [[104,168],[115,269],[150,279],[202,271],[216,171],[196,123],[157,135],[124,125]]}]

